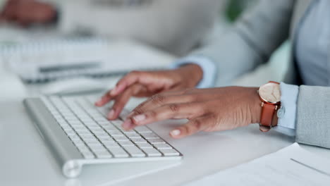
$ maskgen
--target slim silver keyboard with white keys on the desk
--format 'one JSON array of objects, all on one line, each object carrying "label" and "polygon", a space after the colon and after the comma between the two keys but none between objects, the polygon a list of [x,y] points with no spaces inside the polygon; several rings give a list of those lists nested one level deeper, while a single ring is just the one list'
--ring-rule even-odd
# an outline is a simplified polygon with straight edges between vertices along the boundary
[{"label": "slim silver keyboard with white keys on the desk", "polygon": [[41,97],[24,104],[53,151],[63,175],[75,178],[93,163],[178,160],[183,155],[147,126],[121,128],[128,111],[107,120],[109,106],[96,108],[90,97]]}]

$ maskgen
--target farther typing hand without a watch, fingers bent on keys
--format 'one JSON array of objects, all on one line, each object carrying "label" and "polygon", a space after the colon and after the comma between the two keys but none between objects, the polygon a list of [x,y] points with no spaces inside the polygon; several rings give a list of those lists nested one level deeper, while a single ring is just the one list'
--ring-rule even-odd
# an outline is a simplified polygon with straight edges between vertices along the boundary
[{"label": "farther typing hand without a watch, fingers bent on keys", "polygon": [[104,94],[95,106],[104,106],[114,100],[114,106],[108,114],[108,118],[114,120],[118,118],[130,97],[150,97],[159,92],[192,88],[201,79],[202,69],[194,64],[176,70],[133,71],[119,80],[116,87]]}]

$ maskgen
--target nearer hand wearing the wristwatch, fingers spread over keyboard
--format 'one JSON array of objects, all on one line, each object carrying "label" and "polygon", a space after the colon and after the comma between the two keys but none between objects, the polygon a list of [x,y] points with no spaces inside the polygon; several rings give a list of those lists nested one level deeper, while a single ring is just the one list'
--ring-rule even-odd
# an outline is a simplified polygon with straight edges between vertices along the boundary
[{"label": "nearer hand wearing the wristwatch, fingers spread over keyboard", "polygon": [[199,131],[231,130],[259,123],[261,101],[257,88],[224,87],[188,89],[154,95],[136,107],[123,123],[131,130],[159,120],[188,119],[188,123],[170,132],[181,138]]}]

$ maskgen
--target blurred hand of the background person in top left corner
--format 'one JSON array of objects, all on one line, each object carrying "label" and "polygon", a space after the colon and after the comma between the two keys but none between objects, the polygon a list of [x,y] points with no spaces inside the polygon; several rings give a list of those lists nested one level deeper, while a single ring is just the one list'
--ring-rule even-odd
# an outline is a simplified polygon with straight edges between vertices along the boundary
[{"label": "blurred hand of the background person in top left corner", "polygon": [[8,0],[0,18],[20,25],[49,23],[56,16],[56,10],[47,3],[35,0]]}]

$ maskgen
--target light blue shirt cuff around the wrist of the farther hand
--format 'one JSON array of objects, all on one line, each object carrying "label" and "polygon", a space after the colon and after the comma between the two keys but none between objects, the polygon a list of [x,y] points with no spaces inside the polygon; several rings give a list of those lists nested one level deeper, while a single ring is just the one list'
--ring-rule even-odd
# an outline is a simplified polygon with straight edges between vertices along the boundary
[{"label": "light blue shirt cuff around the wrist of the farther hand", "polygon": [[178,68],[186,64],[196,64],[202,68],[203,77],[202,80],[196,86],[197,88],[209,88],[214,87],[216,79],[216,66],[213,61],[204,56],[188,56],[181,58],[171,65],[171,68]]}]

